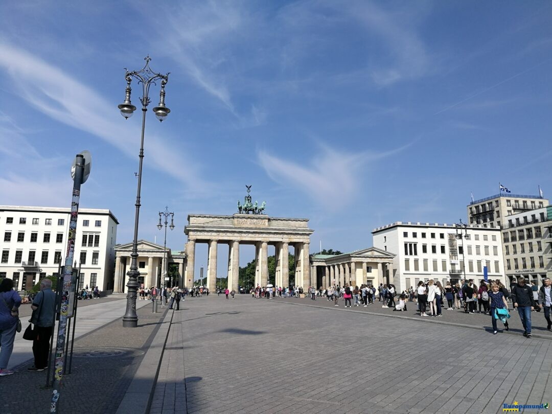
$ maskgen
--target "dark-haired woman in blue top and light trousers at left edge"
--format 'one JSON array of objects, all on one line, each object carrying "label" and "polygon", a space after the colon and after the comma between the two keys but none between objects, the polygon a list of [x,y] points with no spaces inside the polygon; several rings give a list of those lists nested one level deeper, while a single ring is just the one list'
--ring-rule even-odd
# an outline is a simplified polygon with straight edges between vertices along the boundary
[{"label": "dark-haired woman in blue top and light trousers at left edge", "polygon": [[13,280],[4,279],[0,283],[0,376],[12,375],[8,369],[12,356],[13,341],[17,331],[21,296],[13,290]]}]

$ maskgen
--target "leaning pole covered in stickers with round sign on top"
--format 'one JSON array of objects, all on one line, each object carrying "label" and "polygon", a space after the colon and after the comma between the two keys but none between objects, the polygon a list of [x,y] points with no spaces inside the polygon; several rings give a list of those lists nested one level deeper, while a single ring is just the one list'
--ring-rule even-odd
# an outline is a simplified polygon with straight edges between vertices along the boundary
[{"label": "leaning pole covered in stickers with round sign on top", "polygon": [[65,340],[67,315],[69,310],[69,291],[71,289],[71,276],[73,274],[73,256],[75,254],[75,235],[77,232],[78,203],[81,196],[81,184],[84,177],[84,157],[78,154],[75,164],[75,177],[73,178],[73,198],[71,200],[71,219],[69,233],[67,235],[67,250],[65,254],[65,269],[63,270],[63,284],[61,288],[60,323],[57,328],[56,357],[54,360],[54,381],[52,383],[52,401],[50,412],[57,412],[60,400],[61,378],[63,375],[63,362],[65,360]]}]

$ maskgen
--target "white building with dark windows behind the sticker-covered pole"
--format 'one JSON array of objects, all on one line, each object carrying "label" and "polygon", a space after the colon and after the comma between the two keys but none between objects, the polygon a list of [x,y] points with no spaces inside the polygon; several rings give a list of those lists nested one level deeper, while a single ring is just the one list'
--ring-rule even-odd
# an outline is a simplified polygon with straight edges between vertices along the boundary
[{"label": "white building with dark windows behind the sticker-covered pole", "polygon": [[[71,209],[0,206],[0,278],[14,289],[32,288],[65,264]],[[75,255],[80,265],[78,288],[113,289],[114,247],[119,222],[109,210],[79,209]]]}]

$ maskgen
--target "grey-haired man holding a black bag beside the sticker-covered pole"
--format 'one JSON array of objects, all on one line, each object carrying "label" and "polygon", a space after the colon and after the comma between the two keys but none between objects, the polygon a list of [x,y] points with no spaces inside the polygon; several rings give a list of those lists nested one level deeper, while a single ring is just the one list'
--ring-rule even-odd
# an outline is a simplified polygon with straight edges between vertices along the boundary
[{"label": "grey-haired man holding a black bag beside the sticker-covered pole", "polygon": [[52,291],[52,281],[40,281],[40,292],[36,294],[33,304],[31,323],[34,323],[36,339],[33,341],[34,365],[28,371],[44,371],[48,366],[50,337],[56,320],[56,294]]}]

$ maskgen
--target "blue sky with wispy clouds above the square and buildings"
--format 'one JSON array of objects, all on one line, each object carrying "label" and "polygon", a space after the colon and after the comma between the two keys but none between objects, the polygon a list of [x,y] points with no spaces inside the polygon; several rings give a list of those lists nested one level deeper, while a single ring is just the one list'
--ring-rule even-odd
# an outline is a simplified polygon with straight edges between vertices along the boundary
[{"label": "blue sky with wispy clouds above the square and buildings", "polygon": [[173,250],[187,214],[235,213],[246,184],[269,215],[310,219],[311,251],[458,221],[499,181],[549,197],[550,21],[544,1],[3,2],[0,204],[69,206],[87,149],[81,206],[131,241],[141,114],[117,105],[148,54],[171,114],[147,114],[140,237],[162,243],[168,205]]}]

